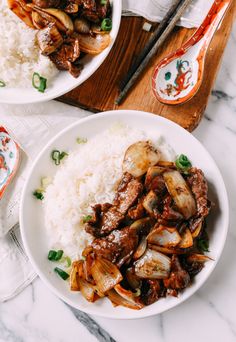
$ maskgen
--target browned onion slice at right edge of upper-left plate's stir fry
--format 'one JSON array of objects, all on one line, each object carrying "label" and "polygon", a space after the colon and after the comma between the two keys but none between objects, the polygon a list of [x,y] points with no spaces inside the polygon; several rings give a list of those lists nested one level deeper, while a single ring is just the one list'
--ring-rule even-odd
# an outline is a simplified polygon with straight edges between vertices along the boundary
[{"label": "browned onion slice at right edge of upper-left plate's stir fry", "polygon": [[82,52],[90,55],[97,55],[106,49],[111,42],[109,34],[97,34],[95,37],[91,35],[79,35],[79,46]]}]

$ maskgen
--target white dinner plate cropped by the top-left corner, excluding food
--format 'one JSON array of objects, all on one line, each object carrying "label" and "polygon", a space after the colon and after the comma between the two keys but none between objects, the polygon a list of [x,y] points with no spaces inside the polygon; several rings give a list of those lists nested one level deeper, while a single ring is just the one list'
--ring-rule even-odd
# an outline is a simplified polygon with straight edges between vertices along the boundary
[{"label": "white dinner plate cropped by the top-left corner, excluding food", "polygon": [[40,93],[35,88],[0,88],[0,103],[26,104],[43,102],[62,96],[68,91],[78,87],[86,81],[103,63],[108,56],[115,39],[117,37],[122,11],[122,1],[112,1],[112,30],[110,32],[111,44],[98,55],[85,56],[81,61],[84,65],[83,70],[78,78],[74,78],[67,71],[61,71],[56,75],[55,79],[50,82],[50,86],[44,93]]}]

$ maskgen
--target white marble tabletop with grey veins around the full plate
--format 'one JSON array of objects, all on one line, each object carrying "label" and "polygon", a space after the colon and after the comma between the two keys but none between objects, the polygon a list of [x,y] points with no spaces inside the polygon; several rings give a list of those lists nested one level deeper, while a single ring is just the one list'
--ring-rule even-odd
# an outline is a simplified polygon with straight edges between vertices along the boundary
[{"label": "white marble tabletop with grey veins around the full plate", "polygon": [[[230,230],[221,260],[206,284],[192,298],[169,312],[139,321],[94,317],[115,341],[236,341],[235,55],[236,26],[205,116],[193,133],[214,157],[229,194]],[[100,336],[97,339],[90,334],[75,312],[57,299],[40,279],[14,299],[0,304],[0,342],[114,341]]]}]

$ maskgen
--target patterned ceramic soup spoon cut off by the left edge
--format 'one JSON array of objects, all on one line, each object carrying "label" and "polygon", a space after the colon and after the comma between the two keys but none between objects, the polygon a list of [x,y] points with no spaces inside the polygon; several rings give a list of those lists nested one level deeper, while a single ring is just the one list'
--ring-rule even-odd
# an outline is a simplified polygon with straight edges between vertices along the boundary
[{"label": "patterned ceramic soup spoon cut off by the left edge", "polygon": [[6,129],[0,126],[0,199],[19,165],[20,148]]}]

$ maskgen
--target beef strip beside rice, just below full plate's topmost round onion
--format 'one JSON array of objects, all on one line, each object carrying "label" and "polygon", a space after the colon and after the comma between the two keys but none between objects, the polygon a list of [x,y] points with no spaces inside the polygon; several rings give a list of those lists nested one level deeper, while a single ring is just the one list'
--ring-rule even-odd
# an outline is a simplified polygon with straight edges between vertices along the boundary
[{"label": "beef strip beside rice, just below full plate's topmost round onion", "polygon": [[142,191],[143,185],[141,181],[126,172],[118,186],[114,204],[122,214],[126,214],[128,209],[138,200]]}]

